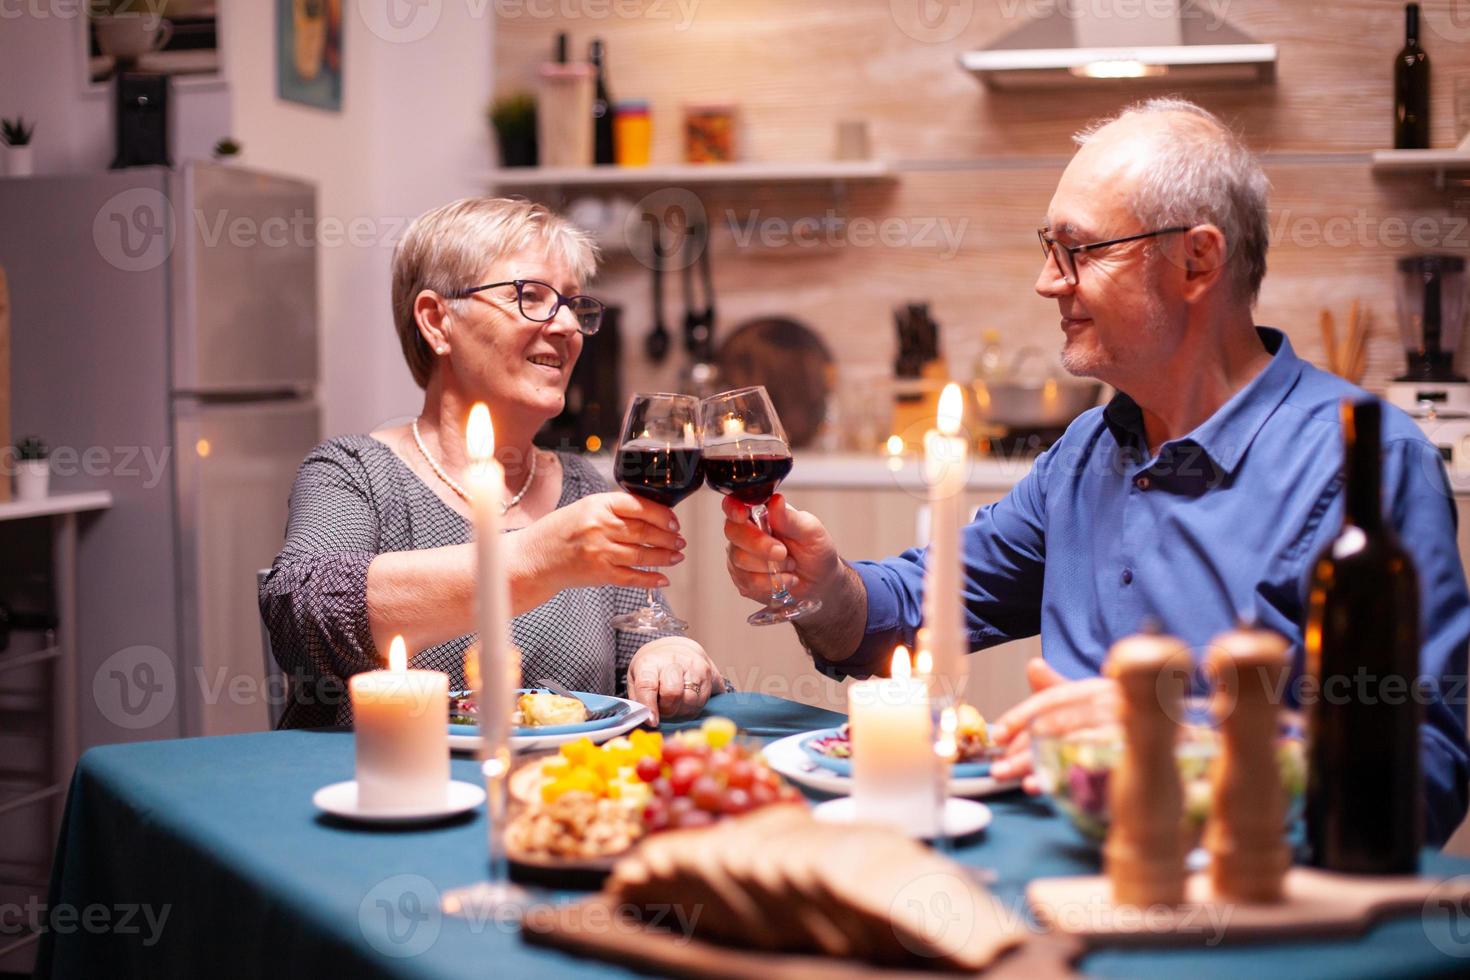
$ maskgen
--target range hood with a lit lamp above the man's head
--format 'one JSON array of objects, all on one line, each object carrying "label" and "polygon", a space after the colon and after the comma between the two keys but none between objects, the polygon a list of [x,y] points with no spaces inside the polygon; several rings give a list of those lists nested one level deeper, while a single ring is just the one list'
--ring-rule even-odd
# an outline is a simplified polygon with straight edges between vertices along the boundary
[{"label": "range hood with a lit lamp above the man's head", "polygon": [[1133,78],[1170,84],[1273,81],[1276,46],[1260,44],[1226,24],[1227,9],[1194,0],[1058,0],[1050,13],[985,48],[960,54],[960,66],[988,88]]}]

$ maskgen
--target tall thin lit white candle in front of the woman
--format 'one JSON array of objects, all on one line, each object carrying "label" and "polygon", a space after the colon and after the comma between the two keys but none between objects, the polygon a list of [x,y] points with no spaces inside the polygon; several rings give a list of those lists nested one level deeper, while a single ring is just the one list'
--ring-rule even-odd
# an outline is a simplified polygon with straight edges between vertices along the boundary
[{"label": "tall thin lit white candle in front of the woman", "polygon": [[475,608],[484,685],[476,691],[484,746],[481,758],[485,774],[497,777],[510,770],[510,713],[516,692],[510,669],[510,582],[500,558],[500,501],[506,472],[495,460],[495,429],[484,403],[476,403],[469,413],[465,448],[470,461],[467,483],[475,511]]}]

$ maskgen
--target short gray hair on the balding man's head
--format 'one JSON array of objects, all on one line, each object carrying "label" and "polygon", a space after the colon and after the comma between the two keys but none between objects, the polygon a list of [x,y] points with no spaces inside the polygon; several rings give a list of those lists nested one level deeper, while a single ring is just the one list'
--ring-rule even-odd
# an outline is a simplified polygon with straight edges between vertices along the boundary
[{"label": "short gray hair on the balding man's head", "polygon": [[1185,98],[1135,103],[1089,125],[1073,140],[1086,144],[1102,126],[1141,115],[1157,116],[1158,126],[1133,191],[1138,217],[1148,229],[1205,223],[1219,228],[1225,232],[1226,263],[1236,294],[1255,303],[1270,244],[1266,212],[1270,181],[1255,154],[1214,113]]}]

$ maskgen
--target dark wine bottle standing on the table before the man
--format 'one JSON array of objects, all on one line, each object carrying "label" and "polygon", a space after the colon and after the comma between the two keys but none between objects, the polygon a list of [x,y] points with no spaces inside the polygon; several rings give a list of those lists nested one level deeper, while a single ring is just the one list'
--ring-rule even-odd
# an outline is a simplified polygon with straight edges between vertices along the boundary
[{"label": "dark wine bottle standing on the table before the man", "polygon": [[1380,501],[1382,408],[1344,401],[1347,510],[1311,570],[1307,848],[1349,874],[1419,868],[1419,576]]}]

